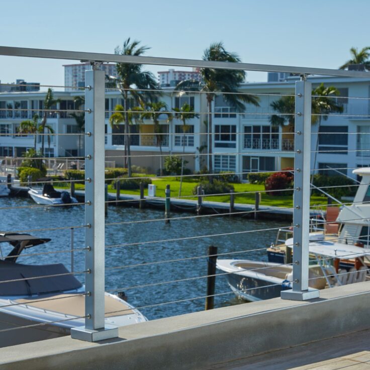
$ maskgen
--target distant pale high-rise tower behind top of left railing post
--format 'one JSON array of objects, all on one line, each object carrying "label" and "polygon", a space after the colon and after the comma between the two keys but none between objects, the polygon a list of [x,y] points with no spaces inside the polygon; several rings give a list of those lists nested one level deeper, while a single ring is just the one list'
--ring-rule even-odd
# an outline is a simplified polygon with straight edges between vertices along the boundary
[{"label": "distant pale high-rise tower behind top of left railing post", "polygon": [[[74,91],[70,86],[83,87],[85,85],[85,71],[91,69],[89,62],[79,64],[64,64],[64,85],[65,91]],[[106,74],[117,77],[116,64],[102,63],[99,69]]]}]

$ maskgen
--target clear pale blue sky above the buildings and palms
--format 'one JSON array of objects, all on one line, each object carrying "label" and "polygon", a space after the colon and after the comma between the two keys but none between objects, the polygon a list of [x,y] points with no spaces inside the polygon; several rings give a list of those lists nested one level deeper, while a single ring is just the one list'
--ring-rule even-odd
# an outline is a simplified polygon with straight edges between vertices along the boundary
[{"label": "clear pale blue sky above the buildings and palms", "polygon": [[[114,53],[131,37],[146,55],[201,59],[222,41],[245,63],[338,68],[352,46],[370,46],[368,14],[368,0],[2,0],[0,45]],[[0,56],[0,80],[62,85],[70,63]]]}]

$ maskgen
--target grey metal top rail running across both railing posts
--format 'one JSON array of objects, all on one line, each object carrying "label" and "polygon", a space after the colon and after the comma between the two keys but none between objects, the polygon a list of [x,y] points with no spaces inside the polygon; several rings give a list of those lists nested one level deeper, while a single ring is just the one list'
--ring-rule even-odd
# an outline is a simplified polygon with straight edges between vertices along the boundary
[{"label": "grey metal top rail running across both railing posts", "polygon": [[89,53],[89,52],[81,52],[81,51],[18,48],[18,47],[10,47],[10,46],[0,46],[0,55],[31,57],[31,58],[69,59],[69,60],[81,60],[81,61],[93,61],[93,62],[167,65],[167,66],[178,66],[178,67],[244,69],[244,70],[260,71],[260,72],[288,72],[288,73],[297,73],[297,74],[319,74],[319,75],[329,75],[329,76],[368,77],[368,78],[370,77],[370,72],[348,71],[348,70],[340,70],[340,69],[294,67],[294,66],[272,65],[272,64],[216,62],[216,61],[209,61],[209,60],[117,55],[117,54]]}]

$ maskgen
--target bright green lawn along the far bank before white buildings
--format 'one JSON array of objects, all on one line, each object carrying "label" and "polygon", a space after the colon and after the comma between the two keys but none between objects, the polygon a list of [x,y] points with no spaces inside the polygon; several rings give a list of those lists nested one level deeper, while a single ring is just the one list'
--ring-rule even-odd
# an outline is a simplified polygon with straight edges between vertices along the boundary
[{"label": "bright green lawn along the far bank before white buildings", "polygon": [[[136,174],[135,174],[136,176]],[[145,176],[145,175],[142,175]],[[178,190],[180,186],[180,181],[176,177],[167,177],[167,178],[156,178],[152,177],[152,183],[156,185],[156,196],[164,197],[164,190],[166,185],[170,185],[171,197],[178,197]],[[193,195],[194,187],[199,183],[199,180],[193,178],[185,177],[182,181],[182,190],[181,196],[190,196]],[[250,184],[250,183],[234,183],[233,184],[235,193],[244,193],[251,192],[250,194],[240,194],[235,196],[235,203],[244,203],[244,204],[254,204],[254,192],[263,192],[264,186],[259,184]],[[69,184],[67,186],[69,188]],[[83,184],[75,184],[76,190],[83,190]],[[116,190],[113,189],[112,185],[108,186],[109,193],[116,193]],[[282,192],[283,193],[283,192]],[[285,192],[284,192],[285,193]],[[123,190],[121,189],[121,194],[133,194],[139,195],[139,190]],[[276,206],[276,207],[292,207],[293,206],[293,191],[287,191],[287,195],[284,196],[269,196],[266,193],[261,193],[261,202],[263,206]],[[148,190],[144,190],[144,195],[148,195]],[[190,197],[185,199],[197,199],[196,197]],[[230,201],[230,196],[228,195],[217,195],[217,196],[208,196],[204,197],[204,200],[213,201],[213,202],[224,202],[228,203]],[[325,197],[312,196],[311,197],[311,206],[313,205],[325,205],[327,204],[327,199]]]}]

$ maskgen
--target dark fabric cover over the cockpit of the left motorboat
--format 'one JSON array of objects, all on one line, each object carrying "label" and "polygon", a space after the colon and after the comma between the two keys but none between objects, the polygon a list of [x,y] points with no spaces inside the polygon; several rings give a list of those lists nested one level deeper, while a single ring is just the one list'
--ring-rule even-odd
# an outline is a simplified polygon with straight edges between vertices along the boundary
[{"label": "dark fabric cover over the cockpit of the left motorboat", "polygon": [[73,275],[52,276],[49,278],[2,283],[8,280],[58,275],[68,272],[69,271],[62,263],[27,265],[0,260],[0,296],[31,296],[46,293],[59,293],[81,288],[81,283]]}]

